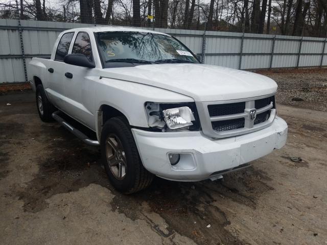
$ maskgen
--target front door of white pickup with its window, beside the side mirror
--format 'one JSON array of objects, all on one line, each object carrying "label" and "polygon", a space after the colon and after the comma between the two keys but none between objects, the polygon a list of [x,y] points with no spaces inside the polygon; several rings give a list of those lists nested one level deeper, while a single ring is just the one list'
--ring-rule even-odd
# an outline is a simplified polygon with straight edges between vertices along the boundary
[{"label": "front door of white pickup with its window, beside the side mirror", "polygon": [[[77,33],[72,43],[72,54],[83,54],[93,61],[91,40],[89,34],[83,31]],[[66,76],[67,73],[69,76]],[[96,71],[77,65],[65,64],[63,81],[67,100],[67,113],[91,129],[95,128],[94,120],[94,79]],[[99,75],[97,76],[99,79]]]}]

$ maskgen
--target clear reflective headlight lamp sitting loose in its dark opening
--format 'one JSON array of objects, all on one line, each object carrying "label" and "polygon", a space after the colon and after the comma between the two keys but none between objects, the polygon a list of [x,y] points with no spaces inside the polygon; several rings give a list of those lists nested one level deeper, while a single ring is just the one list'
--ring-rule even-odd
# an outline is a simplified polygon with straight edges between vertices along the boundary
[{"label": "clear reflective headlight lamp sitting loose in its dark opening", "polygon": [[172,108],[162,111],[168,128],[179,129],[193,125],[195,118],[191,109],[187,106]]}]

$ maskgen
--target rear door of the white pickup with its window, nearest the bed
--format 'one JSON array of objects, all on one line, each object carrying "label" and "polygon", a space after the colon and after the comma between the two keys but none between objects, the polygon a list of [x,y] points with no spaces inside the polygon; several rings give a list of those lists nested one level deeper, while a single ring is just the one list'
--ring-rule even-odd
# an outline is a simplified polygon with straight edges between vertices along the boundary
[{"label": "rear door of the white pickup with its window, nearest the bed", "polygon": [[49,61],[48,67],[46,67],[49,74],[49,88],[46,88],[45,91],[48,92],[51,102],[63,111],[65,111],[64,70],[66,66],[63,58],[68,54],[73,36],[74,32],[64,33],[61,36],[55,56],[51,57],[52,59]]}]

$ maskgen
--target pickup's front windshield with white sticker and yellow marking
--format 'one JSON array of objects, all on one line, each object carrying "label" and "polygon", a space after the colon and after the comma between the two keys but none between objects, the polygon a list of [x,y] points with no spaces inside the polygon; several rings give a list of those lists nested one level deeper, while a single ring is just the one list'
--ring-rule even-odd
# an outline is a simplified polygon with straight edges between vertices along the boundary
[{"label": "pickup's front windshield with white sticker and yellow marking", "polygon": [[105,67],[112,63],[160,64],[199,63],[190,50],[176,39],[146,32],[96,33]]}]

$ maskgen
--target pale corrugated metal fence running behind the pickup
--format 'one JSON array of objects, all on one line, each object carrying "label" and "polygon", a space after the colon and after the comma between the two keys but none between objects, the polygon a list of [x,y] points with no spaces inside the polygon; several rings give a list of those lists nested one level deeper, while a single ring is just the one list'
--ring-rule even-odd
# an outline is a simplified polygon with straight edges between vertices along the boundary
[{"label": "pale corrugated metal fence running behind the pickup", "polygon": [[[0,83],[25,82],[32,57],[50,57],[60,32],[91,24],[0,19]],[[233,32],[155,29],[202,55],[205,64],[237,69],[327,65],[326,39]],[[204,54],[204,56],[203,56]]]}]

